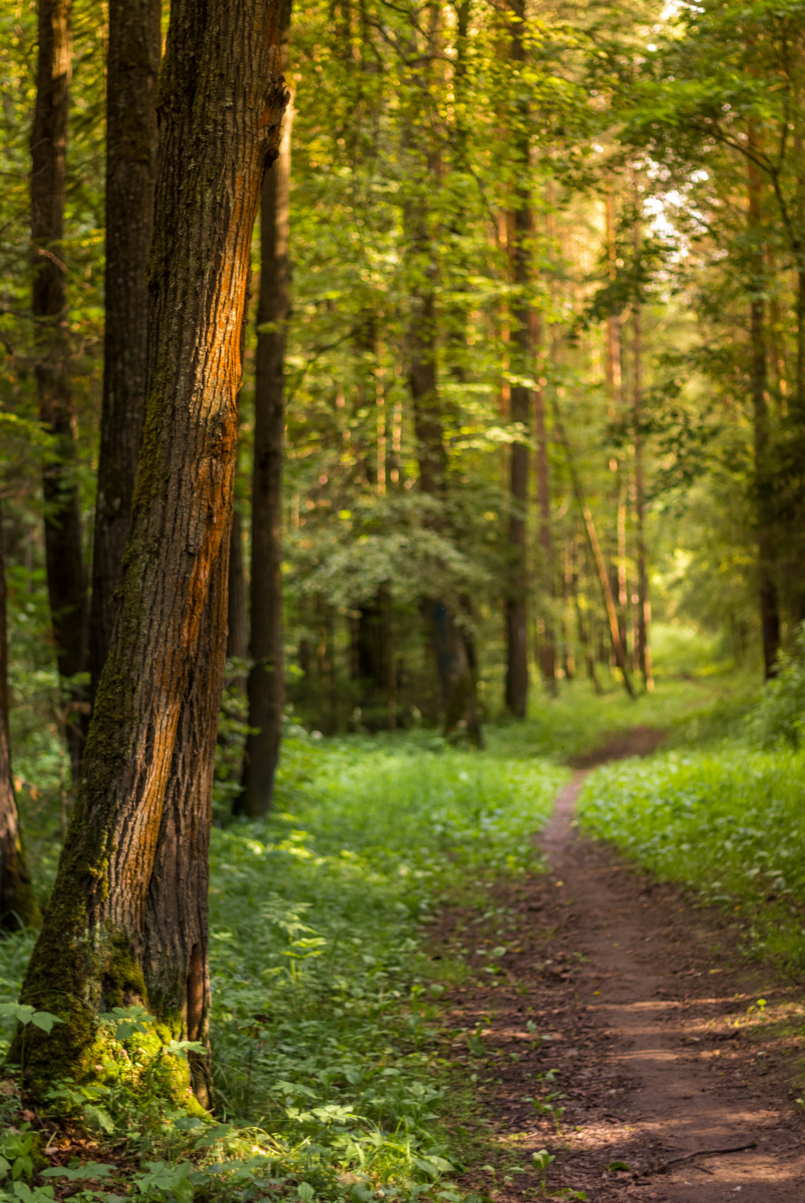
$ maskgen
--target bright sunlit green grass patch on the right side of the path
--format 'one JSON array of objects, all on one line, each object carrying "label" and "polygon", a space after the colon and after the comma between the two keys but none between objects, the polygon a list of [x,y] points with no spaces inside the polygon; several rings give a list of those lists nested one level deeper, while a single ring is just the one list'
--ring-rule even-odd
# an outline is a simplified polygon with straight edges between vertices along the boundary
[{"label": "bright sunlit green grass patch on the right side of the path", "polygon": [[580,813],[585,830],[610,840],[661,879],[729,907],[747,952],[799,972],[805,966],[804,794],[805,753],[758,752],[722,739],[702,749],[598,769],[584,789]]}]

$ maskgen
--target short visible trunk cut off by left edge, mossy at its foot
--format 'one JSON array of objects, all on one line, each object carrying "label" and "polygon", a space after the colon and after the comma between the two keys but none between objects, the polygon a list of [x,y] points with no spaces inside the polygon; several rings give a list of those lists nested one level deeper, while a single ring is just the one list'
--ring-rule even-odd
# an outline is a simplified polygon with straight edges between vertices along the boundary
[{"label": "short visible trunk cut off by left edge, mossy at its foot", "polygon": [[39,928],[42,915],[28,871],[19,829],[8,735],[8,634],[6,545],[0,512],[0,930]]}]

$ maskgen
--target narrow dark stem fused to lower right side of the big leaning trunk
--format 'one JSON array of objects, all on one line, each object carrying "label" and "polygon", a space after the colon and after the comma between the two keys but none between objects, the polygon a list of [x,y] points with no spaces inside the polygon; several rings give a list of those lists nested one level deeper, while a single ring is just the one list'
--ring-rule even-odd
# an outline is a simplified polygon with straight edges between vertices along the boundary
[{"label": "narrow dark stem fused to lower right side of the big leaning trunk", "polygon": [[[199,656],[176,733],[170,784],[146,896],[143,966],[148,1001],[177,1039],[208,1043],[207,894],[215,731],[224,685],[229,544],[213,568]],[[190,1054],[193,1086],[212,1106],[209,1056]]]}]

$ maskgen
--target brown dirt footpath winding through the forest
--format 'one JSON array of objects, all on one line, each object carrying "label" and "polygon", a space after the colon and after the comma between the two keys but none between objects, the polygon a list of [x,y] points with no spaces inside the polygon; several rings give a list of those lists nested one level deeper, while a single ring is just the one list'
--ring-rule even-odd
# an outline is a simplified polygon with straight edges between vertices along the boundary
[{"label": "brown dirt footpath winding through the forest", "polygon": [[[499,1152],[495,1174],[462,1183],[496,1201],[538,1198],[532,1154],[547,1149],[549,1198],[805,1203],[805,991],[747,962],[729,915],[697,908],[575,824],[594,764],[661,740],[643,728],[587,758],[540,836],[547,875],[501,884],[485,924],[452,909],[434,932],[437,959],[463,946],[475,972],[495,964],[493,947],[509,949],[489,986],[452,989],[448,1019],[483,1041],[457,1038],[454,1060],[484,1049],[473,1134]],[[555,1081],[539,1077],[550,1069]],[[556,1121],[550,1107],[564,1108]]]}]

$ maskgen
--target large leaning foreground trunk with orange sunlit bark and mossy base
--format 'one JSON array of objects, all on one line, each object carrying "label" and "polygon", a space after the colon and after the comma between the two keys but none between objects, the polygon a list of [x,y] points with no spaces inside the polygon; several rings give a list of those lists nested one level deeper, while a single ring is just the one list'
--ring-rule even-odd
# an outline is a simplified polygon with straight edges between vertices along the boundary
[{"label": "large leaning foreground trunk with orange sunlit bark and mossy base", "polygon": [[[65,1020],[51,1036],[26,1039],[39,1080],[91,1074],[99,1011],[149,1005],[146,913],[162,817],[176,822],[179,758],[188,761],[194,741],[203,763],[214,737],[225,636],[223,623],[213,644],[200,632],[206,605],[219,614],[214,594],[208,602],[211,581],[225,579],[219,559],[232,511],[251,230],[285,105],[278,43],[276,0],[172,5],[160,84],[146,414],[120,612],[23,989],[26,1002]],[[203,717],[191,721],[196,689]],[[209,805],[209,777],[200,776],[189,802],[197,832],[206,830],[201,810],[206,816]],[[203,926],[197,895],[206,881],[182,881],[183,906]],[[194,947],[203,960],[202,944]],[[206,972],[193,956],[191,964],[180,986],[188,1017],[197,1014]],[[154,1005],[167,1007],[160,1018],[172,1029],[190,1024],[177,1015],[176,998],[162,1003],[160,994]]]}]

